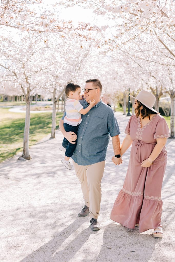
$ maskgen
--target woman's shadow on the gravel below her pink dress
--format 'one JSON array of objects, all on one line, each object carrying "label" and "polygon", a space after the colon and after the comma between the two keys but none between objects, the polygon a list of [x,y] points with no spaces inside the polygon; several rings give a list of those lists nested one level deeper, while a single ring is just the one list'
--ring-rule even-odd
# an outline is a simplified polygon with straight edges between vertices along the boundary
[{"label": "woman's shadow on the gravel below her pink dress", "polygon": [[152,234],[139,233],[139,228],[129,229],[111,223],[104,230],[103,246],[95,261],[147,262],[152,257],[156,242]]}]

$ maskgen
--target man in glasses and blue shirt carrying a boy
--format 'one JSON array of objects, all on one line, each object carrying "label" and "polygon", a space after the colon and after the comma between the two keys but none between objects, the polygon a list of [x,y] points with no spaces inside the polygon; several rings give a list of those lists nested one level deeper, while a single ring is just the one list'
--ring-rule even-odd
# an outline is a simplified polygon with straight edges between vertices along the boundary
[{"label": "man in glasses and blue shirt carrying a boy", "polygon": [[[99,230],[100,224],[97,221],[101,202],[101,180],[103,177],[105,158],[109,137],[112,137],[114,149],[113,162],[115,165],[122,163],[120,156],[120,130],[112,108],[107,106],[100,99],[102,84],[99,79],[89,79],[84,86],[86,100],[79,101],[83,108],[86,108],[91,100],[95,105],[91,110],[82,115],[82,122],[79,125],[77,136],[73,132],[66,132],[63,127],[63,119],[60,120],[60,130],[64,137],[71,143],[77,140],[77,146],[73,153],[72,160],[76,175],[81,183],[85,205],[79,217],[87,216],[90,213],[91,230]],[[64,144],[62,144],[63,148]]]}]

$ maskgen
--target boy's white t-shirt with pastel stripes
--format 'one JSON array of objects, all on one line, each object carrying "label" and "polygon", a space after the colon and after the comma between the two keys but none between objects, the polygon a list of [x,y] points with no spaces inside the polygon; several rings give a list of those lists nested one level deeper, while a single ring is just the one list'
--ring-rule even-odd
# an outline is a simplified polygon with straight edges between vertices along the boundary
[{"label": "boy's white t-shirt with pastel stripes", "polygon": [[66,116],[64,118],[64,123],[69,125],[75,125],[81,123],[81,113],[79,111],[83,108],[79,101],[76,99],[66,99]]}]

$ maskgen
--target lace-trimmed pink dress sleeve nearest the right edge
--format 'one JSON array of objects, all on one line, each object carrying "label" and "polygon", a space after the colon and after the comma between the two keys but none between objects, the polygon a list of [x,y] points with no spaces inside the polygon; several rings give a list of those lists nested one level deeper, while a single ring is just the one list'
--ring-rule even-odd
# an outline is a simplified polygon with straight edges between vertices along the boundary
[{"label": "lace-trimmed pink dress sleeve nearest the right edge", "polygon": [[164,117],[161,116],[160,120],[157,122],[154,139],[156,138],[168,138],[170,137],[169,128]]}]

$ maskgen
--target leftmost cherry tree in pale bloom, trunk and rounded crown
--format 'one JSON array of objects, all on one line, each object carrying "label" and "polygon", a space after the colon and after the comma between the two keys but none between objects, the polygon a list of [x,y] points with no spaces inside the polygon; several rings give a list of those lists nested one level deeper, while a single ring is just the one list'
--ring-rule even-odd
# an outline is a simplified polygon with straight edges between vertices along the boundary
[{"label": "leftmost cherry tree in pale bloom, trunk and rounded crown", "polygon": [[[45,84],[43,73],[47,73],[51,67],[48,59],[49,47],[43,42],[38,43],[38,39],[30,37],[20,38],[14,41],[7,37],[2,43],[1,64],[2,72],[1,85],[8,87],[6,92],[23,93],[26,101],[26,117],[24,127],[24,142],[22,157],[30,159],[29,155],[29,128],[30,128],[30,95],[39,90]],[[14,90],[15,87],[15,90]]]}]

